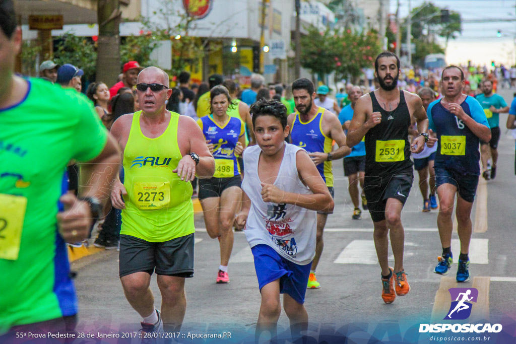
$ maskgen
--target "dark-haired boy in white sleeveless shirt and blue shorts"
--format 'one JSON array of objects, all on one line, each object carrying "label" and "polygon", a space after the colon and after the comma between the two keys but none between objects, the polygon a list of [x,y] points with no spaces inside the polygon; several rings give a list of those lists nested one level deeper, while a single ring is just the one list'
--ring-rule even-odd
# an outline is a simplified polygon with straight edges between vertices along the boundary
[{"label": "dark-haired boy in white sleeveless shirt and blue shorts", "polygon": [[[255,339],[276,336],[284,293],[294,340],[308,328],[303,303],[315,255],[316,211],[331,211],[334,203],[308,153],[285,142],[286,107],[263,100],[250,112],[257,145],[244,151],[243,205],[236,223],[245,227],[262,294]],[[262,333],[270,338],[260,338]]]}]

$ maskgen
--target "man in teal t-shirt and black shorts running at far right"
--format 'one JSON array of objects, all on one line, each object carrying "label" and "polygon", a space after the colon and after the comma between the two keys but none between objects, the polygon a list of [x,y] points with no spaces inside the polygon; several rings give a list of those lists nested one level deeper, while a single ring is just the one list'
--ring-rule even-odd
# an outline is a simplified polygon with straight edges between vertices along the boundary
[{"label": "man in teal t-shirt and black shorts running at far right", "polygon": [[[501,95],[493,93],[493,81],[486,79],[480,84],[482,92],[476,96],[486,113],[491,128],[491,141],[480,141],[480,158],[482,160],[482,176],[488,181],[496,176],[498,161],[498,141],[500,140],[499,113],[509,112],[509,106]],[[489,146],[488,146],[489,144]],[[488,172],[488,160],[491,157],[491,173]]]}]

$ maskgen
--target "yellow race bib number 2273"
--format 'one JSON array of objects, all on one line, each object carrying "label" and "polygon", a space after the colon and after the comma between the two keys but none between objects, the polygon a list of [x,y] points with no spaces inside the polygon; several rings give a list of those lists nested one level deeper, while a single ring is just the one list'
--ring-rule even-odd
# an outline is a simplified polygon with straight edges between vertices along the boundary
[{"label": "yellow race bib number 2273", "polygon": [[141,210],[167,206],[170,203],[170,182],[134,183],[134,203]]}]

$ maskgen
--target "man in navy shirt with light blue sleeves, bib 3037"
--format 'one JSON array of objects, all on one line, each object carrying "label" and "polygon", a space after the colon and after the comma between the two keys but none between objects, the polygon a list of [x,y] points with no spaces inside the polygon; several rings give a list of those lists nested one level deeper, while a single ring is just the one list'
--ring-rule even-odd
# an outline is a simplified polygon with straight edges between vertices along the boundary
[{"label": "man in navy shirt with light blue sleeves, bib 3037", "polygon": [[439,196],[437,227],[443,247],[443,255],[434,269],[445,275],[453,262],[451,254],[451,231],[455,194],[457,195],[457,232],[460,238],[457,282],[470,280],[471,208],[475,199],[480,167],[478,160],[480,140],[491,140],[491,129],[482,106],[478,101],[462,94],[464,72],[455,65],[443,70],[441,89],[444,97],[428,106],[428,120],[438,138],[434,169]]}]

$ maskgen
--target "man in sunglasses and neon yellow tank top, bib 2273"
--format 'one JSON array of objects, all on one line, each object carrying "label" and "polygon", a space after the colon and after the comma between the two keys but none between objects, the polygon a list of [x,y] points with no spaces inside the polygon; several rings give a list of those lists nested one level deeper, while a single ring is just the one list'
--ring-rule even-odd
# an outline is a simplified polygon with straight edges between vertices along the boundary
[{"label": "man in sunglasses and neon yellow tank top, bib 2273", "polygon": [[[215,171],[201,129],[170,112],[167,73],[156,67],[138,75],[141,111],[125,114],[111,133],[123,151],[125,181],[115,183],[113,206],[122,209],[120,281],[125,297],[143,318],[142,335],[179,332],[186,311],[185,278],[193,276],[193,205],[190,181]],[[149,288],[157,275],[161,312]]]}]

